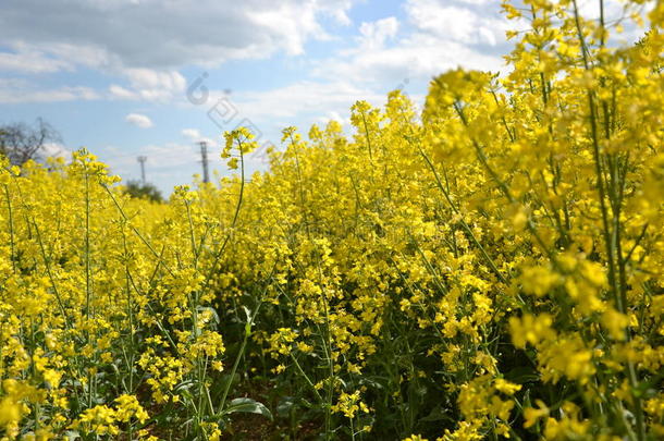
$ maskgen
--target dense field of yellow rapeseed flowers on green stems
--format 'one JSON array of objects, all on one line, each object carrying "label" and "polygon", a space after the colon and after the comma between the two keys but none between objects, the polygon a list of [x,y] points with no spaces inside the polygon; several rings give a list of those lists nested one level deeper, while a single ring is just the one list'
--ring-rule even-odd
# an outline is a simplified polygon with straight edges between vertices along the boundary
[{"label": "dense field of yellow rapeseed flowers on green stems", "polygon": [[664,439],[664,2],[641,3],[506,3],[503,76],[444,73],[421,115],[359,101],[351,136],[288,127],[253,176],[226,133],[235,177],[168,204],[86,150],[2,162],[0,438]]}]

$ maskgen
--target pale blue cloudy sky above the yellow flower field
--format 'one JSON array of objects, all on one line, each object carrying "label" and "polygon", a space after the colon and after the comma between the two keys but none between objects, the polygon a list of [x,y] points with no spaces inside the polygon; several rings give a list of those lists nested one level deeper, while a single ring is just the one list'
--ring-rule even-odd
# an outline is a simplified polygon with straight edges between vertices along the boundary
[{"label": "pale blue cloudy sky above the yellow flower field", "polygon": [[[500,0],[2,0],[0,123],[41,117],[124,179],[165,193],[214,169],[224,130],[345,122],[358,99],[415,99],[432,75],[497,71]],[[250,167],[260,169],[260,158]]]}]

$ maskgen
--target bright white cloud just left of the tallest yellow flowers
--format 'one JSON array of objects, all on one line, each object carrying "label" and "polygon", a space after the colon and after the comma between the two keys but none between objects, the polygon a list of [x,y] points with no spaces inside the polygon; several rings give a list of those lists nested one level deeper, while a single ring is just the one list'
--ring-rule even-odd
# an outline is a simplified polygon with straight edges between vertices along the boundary
[{"label": "bright white cloud just left of the tallest yellow flowers", "polygon": [[328,81],[344,78],[382,94],[404,79],[428,83],[431,76],[463,66],[504,69],[511,23],[500,2],[481,0],[407,0],[403,23],[394,17],[362,23],[356,47],[313,63],[312,72]]}]

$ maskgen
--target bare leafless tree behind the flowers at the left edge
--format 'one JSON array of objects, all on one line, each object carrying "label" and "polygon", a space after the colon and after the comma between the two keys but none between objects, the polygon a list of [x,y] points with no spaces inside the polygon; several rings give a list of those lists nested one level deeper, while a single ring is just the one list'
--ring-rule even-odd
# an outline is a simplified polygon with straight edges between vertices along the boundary
[{"label": "bare leafless tree behind the flowers at the left edge", "polygon": [[37,119],[35,125],[0,125],[0,155],[7,156],[14,166],[23,166],[30,159],[41,159],[46,144],[61,140],[60,133],[41,118]]}]

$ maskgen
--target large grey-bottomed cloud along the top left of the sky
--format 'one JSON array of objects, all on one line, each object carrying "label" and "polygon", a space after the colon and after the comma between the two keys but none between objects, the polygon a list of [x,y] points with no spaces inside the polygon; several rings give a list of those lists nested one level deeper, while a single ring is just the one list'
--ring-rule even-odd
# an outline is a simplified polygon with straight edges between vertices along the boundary
[{"label": "large grey-bottomed cloud along the top left of the sky", "polygon": [[303,53],[309,39],[329,38],[329,19],[349,24],[354,1],[4,0],[0,45],[39,48],[41,59],[109,71],[214,66]]}]

